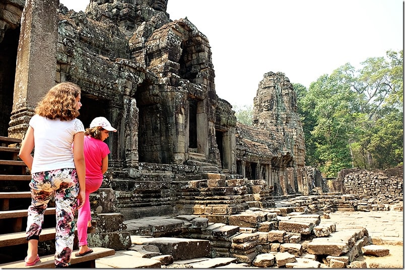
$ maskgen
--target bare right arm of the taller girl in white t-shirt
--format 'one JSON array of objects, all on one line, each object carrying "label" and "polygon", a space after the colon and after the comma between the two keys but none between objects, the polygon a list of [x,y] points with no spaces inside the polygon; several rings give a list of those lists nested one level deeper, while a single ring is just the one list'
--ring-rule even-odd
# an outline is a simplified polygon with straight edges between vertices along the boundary
[{"label": "bare right arm of the taller girl in white t-shirt", "polygon": [[78,132],[73,137],[73,159],[75,161],[75,167],[79,178],[79,208],[84,205],[86,199],[86,163],[84,158],[83,152],[83,144],[84,144],[84,132]]}]

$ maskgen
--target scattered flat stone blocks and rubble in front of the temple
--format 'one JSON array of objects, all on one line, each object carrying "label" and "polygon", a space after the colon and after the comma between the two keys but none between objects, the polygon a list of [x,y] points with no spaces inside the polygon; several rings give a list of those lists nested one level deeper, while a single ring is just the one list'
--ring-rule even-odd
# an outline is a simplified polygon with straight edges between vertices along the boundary
[{"label": "scattered flat stone blocks and rubble in front of the temple", "polygon": [[125,220],[132,242],[125,254],[158,260],[153,267],[345,268],[363,267],[356,262],[361,253],[389,252],[371,245],[364,227],[336,231],[334,224],[321,224],[323,216],[302,209],[250,208],[231,215],[229,224],[196,215]]}]

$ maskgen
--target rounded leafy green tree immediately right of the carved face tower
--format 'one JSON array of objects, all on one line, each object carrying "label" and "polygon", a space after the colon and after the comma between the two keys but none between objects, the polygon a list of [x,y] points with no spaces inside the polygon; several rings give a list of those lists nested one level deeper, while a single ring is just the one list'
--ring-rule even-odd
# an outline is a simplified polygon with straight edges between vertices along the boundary
[{"label": "rounded leafy green tree immediately right of the carved face tower", "polygon": [[311,83],[300,102],[312,126],[309,134],[305,134],[306,147],[309,145],[313,151],[311,155],[307,152],[307,162],[317,166],[324,176],[335,176],[340,169],[351,166],[347,142],[353,130],[352,99],[347,84],[325,74]]}]

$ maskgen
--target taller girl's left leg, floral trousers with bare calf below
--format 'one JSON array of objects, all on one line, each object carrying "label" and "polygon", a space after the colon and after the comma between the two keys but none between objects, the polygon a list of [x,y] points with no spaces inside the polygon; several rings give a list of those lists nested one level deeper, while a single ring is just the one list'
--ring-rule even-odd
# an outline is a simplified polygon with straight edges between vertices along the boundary
[{"label": "taller girl's left leg, floral trousers with bare calf below", "polygon": [[32,174],[30,182],[31,205],[28,208],[26,239],[28,250],[26,262],[33,262],[38,254],[38,240],[44,221],[44,212],[53,194],[52,185],[49,184],[49,173],[38,172]]}]

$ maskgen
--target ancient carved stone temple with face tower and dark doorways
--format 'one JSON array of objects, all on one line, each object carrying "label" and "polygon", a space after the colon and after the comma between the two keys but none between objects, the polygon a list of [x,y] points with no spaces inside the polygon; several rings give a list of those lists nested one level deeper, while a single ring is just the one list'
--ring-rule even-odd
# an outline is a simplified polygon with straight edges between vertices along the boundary
[{"label": "ancient carved stone temple with face tower and dark doorways", "polygon": [[[57,0],[3,1],[0,135],[22,139],[38,100],[72,81],[82,88],[85,127],[105,116],[118,130],[106,141],[103,187],[128,218],[235,214],[248,207],[244,194],[265,207],[273,196],[320,187],[305,167],[288,77],[265,73],[253,125],[238,123],[216,94],[209,38],[187,18],[171,20],[166,7],[167,0],[97,0],[77,13]],[[213,177],[235,181],[211,187]]]}]

